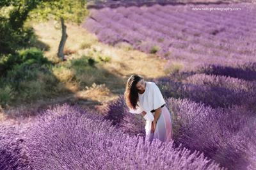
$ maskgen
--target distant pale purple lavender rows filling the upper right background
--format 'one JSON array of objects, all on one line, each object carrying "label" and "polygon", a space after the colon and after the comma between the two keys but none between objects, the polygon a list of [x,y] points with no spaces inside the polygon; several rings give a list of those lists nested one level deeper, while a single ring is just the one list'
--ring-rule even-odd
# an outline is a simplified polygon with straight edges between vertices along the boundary
[{"label": "distant pale purple lavender rows filling the upper right background", "polygon": [[[128,42],[150,52],[157,47],[163,58],[184,63],[255,61],[253,4],[220,4],[241,11],[193,11],[198,6],[160,6],[91,10],[83,26],[102,42]],[[211,6],[209,6],[211,7]]]}]

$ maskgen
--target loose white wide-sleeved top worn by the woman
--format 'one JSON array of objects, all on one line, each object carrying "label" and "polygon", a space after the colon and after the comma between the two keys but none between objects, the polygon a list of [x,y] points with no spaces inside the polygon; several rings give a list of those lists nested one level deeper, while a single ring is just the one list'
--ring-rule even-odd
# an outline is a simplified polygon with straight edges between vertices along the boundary
[{"label": "loose white wide-sleeved top worn by the woman", "polygon": [[160,89],[157,87],[155,82],[146,82],[147,86],[143,94],[139,94],[138,105],[136,110],[129,108],[129,112],[134,114],[140,114],[141,112],[145,111],[147,114],[143,116],[146,120],[146,134],[150,132],[151,129],[151,122],[154,121],[154,116],[152,114],[153,109],[156,110],[157,108],[161,107],[161,105],[166,104],[164,101],[163,95]]}]

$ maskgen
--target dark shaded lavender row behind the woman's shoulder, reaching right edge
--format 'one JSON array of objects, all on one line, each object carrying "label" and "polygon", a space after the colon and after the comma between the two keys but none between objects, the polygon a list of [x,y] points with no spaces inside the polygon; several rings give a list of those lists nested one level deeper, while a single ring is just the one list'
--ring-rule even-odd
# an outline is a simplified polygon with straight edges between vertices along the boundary
[{"label": "dark shaded lavender row behind the woman's shoulder, reaching right edge", "polygon": [[256,63],[204,65],[154,81],[165,97],[189,98],[214,108],[244,105],[256,112]]}]

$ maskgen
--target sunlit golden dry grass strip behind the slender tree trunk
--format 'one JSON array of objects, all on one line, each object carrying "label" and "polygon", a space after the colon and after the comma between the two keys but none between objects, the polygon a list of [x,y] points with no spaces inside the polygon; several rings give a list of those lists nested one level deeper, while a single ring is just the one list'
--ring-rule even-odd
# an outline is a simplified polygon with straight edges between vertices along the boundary
[{"label": "sunlit golden dry grass strip behind the slender tree trunk", "polygon": [[[45,52],[45,56],[48,58],[56,58],[58,43],[61,38],[61,30],[54,28],[53,21],[33,24],[33,27],[40,40],[51,47],[49,51]],[[65,49],[71,50],[72,52],[76,51],[68,56],[68,58],[76,58],[82,54],[88,54],[88,52],[93,49],[101,50],[102,54],[111,57],[111,63],[104,65],[104,68],[108,68],[111,72],[115,71],[115,73],[119,75],[138,73],[145,77],[159,77],[164,75],[163,66],[167,61],[157,58],[156,55],[145,54],[138,50],[127,50],[127,46],[125,47],[125,45],[112,47],[104,43],[99,43],[95,35],[88,33],[83,27],[74,24],[67,24],[67,35],[68,39]],[[86,47],[90,48],[83,49],[84,44],[86,44]],[[148,71],[150,71],[150,74],[148,74]]]}]

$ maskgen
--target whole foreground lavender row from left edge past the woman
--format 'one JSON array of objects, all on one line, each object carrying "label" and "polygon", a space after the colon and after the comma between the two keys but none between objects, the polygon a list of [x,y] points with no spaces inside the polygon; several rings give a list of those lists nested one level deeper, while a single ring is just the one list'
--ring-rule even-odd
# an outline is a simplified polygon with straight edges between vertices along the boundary
[{"label": "whole foreground lavender row from left edge past the woman", "polygon": [[[124,98],[118,101],[106,116],[56,106],[26,128],[26,137],[17,138],[22,126],[1,125],[0,169],[223,169],[202,152],[129,134],[141,121],[125,111]],[[122,111],[116,126],[109,121],[113,109]]]}]

